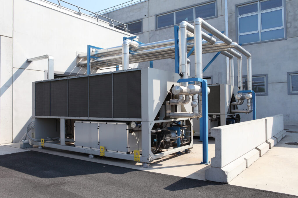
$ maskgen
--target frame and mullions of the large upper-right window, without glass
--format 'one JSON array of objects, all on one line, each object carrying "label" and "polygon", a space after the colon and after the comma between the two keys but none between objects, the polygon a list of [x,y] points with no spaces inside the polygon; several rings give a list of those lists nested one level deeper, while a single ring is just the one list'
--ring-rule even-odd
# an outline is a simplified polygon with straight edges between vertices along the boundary
[{"label": "frame and mullions of the large upper-right window, without glass", "polygon": [[[260,10],[260,2],[263,1],[268,1],[268,0],[253,0],[253,1],[249,1],[246,3],[241,3],[241,4],[236,4],[235,5],[235,24],[237,24],[237,28],[236,29],[236,35],[237,35],[237,42],[239,43],[239,36],[241,35],[246,35],[246,34],[254,34],[254,33],[259,33],[259,41],[256,42],[250,42],[250,43],[243,43],[243,45],[253,45],[253,44],[258,44],[258,43],[266,43],[266,42],[273,42],[273,41],[280,41],[280,40],[286,40],[287,39],[287,18],[286,18],[286,1],[282,0],[283,6],[282,7],[276,7],[276,8],[271,8],[271,9],[266,9],[266,10]],[[243,6],[247,6],[250,4],[258,4],[258,11],[257,12],[252,12],[252,13],[248,13],[248,14],[243,14],[243,15],[238,15],[238,7],[243,7]],[[276,28],[268,28],[265,30],[262,30],[262,18],[261,18],[261,14],[262,13],[266,13],[266,12],[272,12],[272,11],[276,11],[276,10],[282,10],[282,15],[283,15],[283,26],[282,27],[276,27]],[[245,33],[239,33],[239,18],[242,17],[247,17],[247,16],[252,16],[252,15],[258,15],[258,30],[257,31],[251,31],[251,32],[245,32]],[[266,32],[266,31],[271,31],[271,30],[277,30],[277,29],[284,29],[284,38],[279,38],[279,39],[271,39],[271,40],[266,40],[266,41],[262,41],[261,40],[261,33],[262,32]]]}]

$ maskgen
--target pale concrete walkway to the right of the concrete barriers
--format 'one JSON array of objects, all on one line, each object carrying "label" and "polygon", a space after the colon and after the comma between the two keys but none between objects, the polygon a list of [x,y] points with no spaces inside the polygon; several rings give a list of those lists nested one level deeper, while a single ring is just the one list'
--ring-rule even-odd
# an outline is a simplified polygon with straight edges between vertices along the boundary
[{"label": "pale concrete walkway to the right of the concrete barriers", "polygon": [[291,132],[229,184],[298,195],[298,145],[286,144],[298,142],[298,127],[284,127]]}]

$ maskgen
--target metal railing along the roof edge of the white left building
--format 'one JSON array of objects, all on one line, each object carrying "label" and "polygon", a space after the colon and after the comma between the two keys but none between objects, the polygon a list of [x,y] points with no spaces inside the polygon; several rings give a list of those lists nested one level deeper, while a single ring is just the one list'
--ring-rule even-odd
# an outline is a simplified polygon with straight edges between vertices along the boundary
[{"label": "metal railing along the roof edge of the white left building", "polygon": [[[46,0],[45,0],[45,1],[46,1]],[[119,22],[119,21],[117,21],[117,20],[108,18],[108,17],[103,16],[103,15],[100,15],[100,14],[98,14],[98,13],[91,12],[90,10],[81,8],[81,7],[77,6],[77,5],[74,5],[74,4],[69,3],[69,2],[67,2],[67,1],[57,0],[58,4],[53,3],[53,2],[50,2],[50,1],[47,1],[47,2],[49,2],[49,3],[51,3],[51,4],[58,5],[58,7],[60,7],[60,9],[63,8],[63,9],[67,9],[67,10],[69,10],[69,11],[74,11],[74,13],[79,14],[80,16],[81,16],[81,15],[84,15],[84,16],[88,16],[88,17],[91,17],[91,18],[96,18],[96,19],[97,19],[97,22],[99,22],[99,20],[103,20],[103,21],[105,21],[105,22],[107,22],[107,23],[110,23],[110,26],[113,27],[113,28],[116,27],[116,28],[121,29],[121,30],[123,30],[123,31],[125,31],[125,32],[128,32],[128,31],[129,31],[129,30],[127,29],[127,26],[126,26],[124,23],[121,23],[121,22]],[[62,2],[63,2],[63,3],[66,3],[66,4],[68,4],[68,5],[71,5],[72,7],[77,8],[77,10],[73,10],[73,9],[70,9],[70,8],[67,8],[67,7],[63,7],[63,6],[61,5]],[[84,12],[86,12],[86,11],[87,11],[87,13],[84,13]],[[117,25],[115,25],[115,23],[116,23]],[[118,26],[118,25],[119,25],[119,26]],[[123,26],[122,26],[122,25],[123,25]],[[120,27],[120,26],[121,26],[121,27]]]}]

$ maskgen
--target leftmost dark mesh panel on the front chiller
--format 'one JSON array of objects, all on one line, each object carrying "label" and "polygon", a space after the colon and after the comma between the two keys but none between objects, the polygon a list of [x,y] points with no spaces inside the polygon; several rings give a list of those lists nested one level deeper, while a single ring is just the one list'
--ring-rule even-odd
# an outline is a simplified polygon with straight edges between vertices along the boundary
[{"label": "leftmost dark mesh panel on the front chiller", "polygon": [[50,82],[35,83],[35,115],[50,115]]}]

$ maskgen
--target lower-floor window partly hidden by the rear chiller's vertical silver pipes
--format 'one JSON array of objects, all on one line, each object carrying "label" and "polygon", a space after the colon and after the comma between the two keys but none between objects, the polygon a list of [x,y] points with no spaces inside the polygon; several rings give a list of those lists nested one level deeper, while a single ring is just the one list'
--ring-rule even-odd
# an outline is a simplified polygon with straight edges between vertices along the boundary
[{"label": "lower-floor window partly hidden by the rear chiller's vertical silver pipes", "polygon": [[[247,76],[243,76],[243,90],[247,90]],[[252,75],[252,90],[257,96],[268,96],[268,75]]]}]

